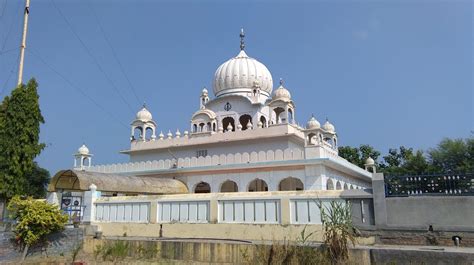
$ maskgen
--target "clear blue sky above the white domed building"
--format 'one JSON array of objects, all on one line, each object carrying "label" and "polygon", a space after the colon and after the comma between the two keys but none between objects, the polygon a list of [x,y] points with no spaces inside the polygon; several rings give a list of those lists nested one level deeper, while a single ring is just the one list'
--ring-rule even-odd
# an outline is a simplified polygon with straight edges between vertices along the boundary
[{"label": "clear blue sky above the white domed building", "polygon": [[[2,98],[16,84],[22,4],[0,0]],[[118,151],[143,101],[158,130],[188,129],[202,87],[237,55],[241,27],[247,54],[275,85],[284,78],[298,122],[328,117],[341,145],[426,150],[474,128],[471,1],[33,0],[30,9],[24,76],[40,84],[38,161],[52,174],[83,142],[95,164],[127,161]]]}]

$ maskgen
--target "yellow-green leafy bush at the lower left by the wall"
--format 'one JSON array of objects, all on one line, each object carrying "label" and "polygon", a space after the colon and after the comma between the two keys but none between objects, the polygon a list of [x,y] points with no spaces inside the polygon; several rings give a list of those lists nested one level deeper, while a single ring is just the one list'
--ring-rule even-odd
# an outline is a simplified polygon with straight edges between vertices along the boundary
[{"label": "yellow-green leafy bush at the lower left by the wall", "polygon": [[8,203],[10,218],[16,221],[14,232],[16,241],[22,247],[29,247],[46,235],[64,229],[68,221],[55,205],[31,197],[13,197]]}]

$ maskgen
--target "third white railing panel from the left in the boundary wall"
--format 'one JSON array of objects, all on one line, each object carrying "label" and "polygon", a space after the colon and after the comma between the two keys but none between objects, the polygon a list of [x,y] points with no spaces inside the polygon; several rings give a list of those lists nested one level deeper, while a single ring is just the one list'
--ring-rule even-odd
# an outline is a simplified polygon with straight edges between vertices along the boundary
[{"label": "third white railing panel from the left in the boundary wall", "polygon": [[222,200],[219,201],[219,223],[280,222],[280,200]]}]

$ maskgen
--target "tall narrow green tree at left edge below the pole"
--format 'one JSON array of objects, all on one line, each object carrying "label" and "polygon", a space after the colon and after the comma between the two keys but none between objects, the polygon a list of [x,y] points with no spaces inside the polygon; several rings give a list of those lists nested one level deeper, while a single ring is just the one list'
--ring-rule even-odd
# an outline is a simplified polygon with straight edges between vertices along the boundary
[{"label": "tall narrow green tree at left edge below the pole", "polygon": [[45,147],[39,142],[44,119],[37,88],[31,79],[13,89],[0,105],[0,197],[6,199],[27,193],[34,159]]}]

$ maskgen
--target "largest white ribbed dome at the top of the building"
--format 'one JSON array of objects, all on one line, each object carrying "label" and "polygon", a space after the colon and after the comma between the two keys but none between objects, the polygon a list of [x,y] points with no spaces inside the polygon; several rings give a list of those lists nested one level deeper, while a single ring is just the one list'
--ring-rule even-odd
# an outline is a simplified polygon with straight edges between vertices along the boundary
[{"label": "largest white ribbed dome at the top of the building", "polygon": [[260,92],[270,96],[273,89],[273,79],[270,71],[261,62],[248,57],[244,50],[223,63],[214,74],[214,95],[252,92],[256,86]]}]

